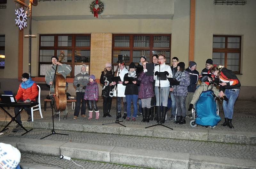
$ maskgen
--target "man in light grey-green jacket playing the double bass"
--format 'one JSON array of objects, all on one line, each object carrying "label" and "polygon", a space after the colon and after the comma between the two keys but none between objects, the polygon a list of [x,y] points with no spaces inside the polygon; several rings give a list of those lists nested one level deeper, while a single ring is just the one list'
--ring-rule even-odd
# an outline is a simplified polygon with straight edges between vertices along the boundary
[{"label": "man in light grey-green jacket playing the double bass", "polygon": [[[57,56],[52,56],[52,66],[46,71],[45,74],[45,82],[48,85],[52,85],[53,77],[55,74],[56,67],[58,66],[57,72],[59,74],[62,74],[62,76],[66,79],[67,75],[71,72],[71,67],[69,65],[66,65],[64,63],[58,62],[58,57]],[[54,92],[54,88],[51,88],[51,92]],[[54,118],[59,117],[59,112],[54,113],[53,115]],[[68,119],[68,108],[63,111],[63,120]]]}]

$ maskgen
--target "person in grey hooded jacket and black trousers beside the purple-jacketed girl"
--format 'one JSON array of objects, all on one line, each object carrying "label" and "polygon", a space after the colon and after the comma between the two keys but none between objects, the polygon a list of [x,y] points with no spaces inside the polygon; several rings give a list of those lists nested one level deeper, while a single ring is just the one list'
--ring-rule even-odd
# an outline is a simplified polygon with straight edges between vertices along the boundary
[{"label": "person in grey hooded jacket and black trousers beside the purple-jacketed girl", "polygon": [[86,73],[86,65],[82,65],[81,72],[77,74],[74,78],[73,85],[76,87],[76,107],[74,112],[73,119],[77,119],[80,111],[80,104],[82,100],[82,106],[81,106],[81,116],[86,117],[85,111],[86,111],[86,100],[84,100],[84,92],[86,85],[89,81],[89,74]]}]

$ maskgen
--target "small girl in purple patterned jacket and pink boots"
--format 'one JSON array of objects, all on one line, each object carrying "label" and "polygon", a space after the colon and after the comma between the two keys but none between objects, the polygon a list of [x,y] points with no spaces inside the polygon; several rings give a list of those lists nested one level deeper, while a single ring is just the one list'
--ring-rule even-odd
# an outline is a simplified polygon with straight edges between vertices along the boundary
[{"label": "small girl in purple patterned jacket and pink boots", "polygon": [[99,119],[100,113],[99,113],[99,110],[98,110],[98,107],[97,107],[97,102],[96,102],[99,98],[99,88],[98,88],[97,82],[95,81],[95,76],[93,74],[90,75],[89,81],[90,82],[87,84],[86,89],[85,89],[85,93],[84,93],[84,99],[87,100],[88,103],[89,103],[89,117],[88,117],[88,119],[92,119],[92,112],[93,112],[92,104],[93,104],[94,111],[95,111],[95,114],[96,114],[95,119]]}]

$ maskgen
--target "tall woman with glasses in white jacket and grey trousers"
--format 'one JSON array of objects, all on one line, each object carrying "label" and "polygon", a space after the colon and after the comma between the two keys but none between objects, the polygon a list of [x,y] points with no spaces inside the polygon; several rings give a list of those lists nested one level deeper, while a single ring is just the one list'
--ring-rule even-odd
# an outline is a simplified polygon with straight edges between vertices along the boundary
[{"label": "tall woman with glasses in white jacket and grey trousers", "polygon": [[[159,102],[159,80],[157,80],[157,75],[159,72],[164,72],[166,77],[172,77],[172,69],[169,65],[165,65],[165,56],[163,54],[158,56],[158,64],[159,65],[155,66],[155,73],[154,73],[154,80],[155,82],[155,93],[156,93],[156,118],[157,118],[157,123],[159,122],[161,118],[161,123],[165,122],[165,116],[167,112],[167,101],[168,101],[168,96],[170,93],[170,82],[168,80],[160,81],[160,86],[161,86],[161,101],[163,103],[163,113],[162,117],[159,116],[159,106],[161,105],[161,102]],[[160,70],[159,70],[160,69]]]}]

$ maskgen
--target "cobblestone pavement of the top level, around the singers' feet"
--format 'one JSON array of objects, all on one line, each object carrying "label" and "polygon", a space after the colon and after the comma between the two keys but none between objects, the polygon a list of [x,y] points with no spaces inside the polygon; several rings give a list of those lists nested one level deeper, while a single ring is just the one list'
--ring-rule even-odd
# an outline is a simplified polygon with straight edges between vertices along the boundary
[{"label": "cobblestone pavement of the top level, around the singers' feet", "polygon": [[[44,97],[42,97],[44,98]],[[41,99],[43,100],[43,99]],[[115,122],[116,120],[116,99],[113,99],[112,101],[112,108],[111,108],[111,115],[112,117],[106,117],[103,118],[102,117],[102,99],[99,99],[97,105],[99,107],[100,110],[100,119],[96,120],[95,118],[95,114],[93,113],[93,119],[88,120],[87,118],[83,118],[81,116],[79,116],[77,118],[77,120],[73,120],[73,116],[74,116],[74,110],[71,109],[71,102],[68,102],[68,120],[69,122],[74,122],[76,123],[76,121],[78,122],[84,122],[84,124],[90,124],[92,122],[100,122],[100,123],[111,123],[111,122]],[[246,132],[255,132],[256,131],[256,100],[237,100],[235,103],[235,108],[234,108],[234,116],[233,116],[233,120],[232,123],[234,125],[234,129],[230,129],[229,127],[222,127],[220,126],[221,123],[224,122],[224,114],[223,114],[223,110],[222,110],[222,104],[219,104],[220,107],[220,117],[221,117],[221,121],[220,123],[218,123],[218,125],[213,129],[213,130],[225,130],[225,131],[246,131]],[[37,111],[36,113],[34,113],[34,120],[35,121],[40,121],[43,122],[44,120],[49,120],[52,118],[52,111],[50,108],[50,103],[48,102],[47,105],[47,109],[46,111],[44,111],[44,101],[41,102],[42,105],[42,113],[43,113],[43,119],[41,119],[39,112]],[[14,115],[13,112],[13,108],[10,108],[10,110],[8,110],[12,115]],[[88,109],[86,110],[86,114],[88,114]],[[123,112],[122,112],[123,115]],[[174,124],[173,121],[169,121],[168,118],[170,116],[170,110],[167,112],[167,121],[164,123],[164,125],[168,126],[168,127],[179,127],[179,128],[190,128],[189,122],[192,119],[186,118],[186,124],[180,125],[180,124]],[[5,120],[6,114],[3,112],[3,110],[0,110],[0,120]],[[9,122],[10,118],[9,116],[7,116],[7,123]],[[25,112],[21,113],[21,117],[22,120],[26,120],[28,118],[28,115]],[[62,115],[61,115],[61,120],[62,120]],[[122,119],[124,120],[124,119]],[[141,122],[142,120],[142,116],[139,116],[136,118],[136,122],[132,122],[132,121],[125,121],[122,122],[122,124],[126,125],[126,124],[137,124],[137,125],[143,125],[143,126],[150,126],[153,124],[156,124],[156,121],[150,121],[149,123],[143,123]],[[121,120],[120,120],[121,121]],[[62,120],[62,122],[64,122]],[[198,130],[198,129],[203,129],[203,130],[212,130],[210,128],[205,128],[203,126],[197,126],[192,128],[193,130]]]}]

